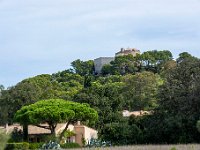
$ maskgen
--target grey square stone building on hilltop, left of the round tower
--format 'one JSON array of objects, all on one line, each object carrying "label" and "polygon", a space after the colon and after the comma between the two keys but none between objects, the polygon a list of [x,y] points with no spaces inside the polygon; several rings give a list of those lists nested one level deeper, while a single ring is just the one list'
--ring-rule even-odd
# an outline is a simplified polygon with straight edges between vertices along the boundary
[{"label": "grey square stone building on hilltop, left of the round tower", "polygon": [[100,74],[101,69],[104,65],[110,64],[111,61],[115,60],[114,57],[99,57],[94,60],[95,73]]}]

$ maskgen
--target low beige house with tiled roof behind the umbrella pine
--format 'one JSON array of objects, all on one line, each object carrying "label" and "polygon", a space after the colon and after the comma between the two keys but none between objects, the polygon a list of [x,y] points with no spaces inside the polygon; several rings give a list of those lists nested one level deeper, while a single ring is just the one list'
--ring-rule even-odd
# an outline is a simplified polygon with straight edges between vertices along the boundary
[{"label": "low beige house with tiled roof behind the umbrella pine", "polygon": [[[67,123],[59,123],[57,124],[57,127],[55,129],[56,136],[59,136],[60,133],[65,129]],[[41,124],[43,126],[46,126],[47,124]],[[14,130],[22,131],[23,127],[19,124],[14,124],[11,126],[1,127],[0,131],[6,131],[6,133],[11,133]],[[72,134],[70,137],[65,138],[64,143],[78,143],[80,146],[83,146],[82,139],[84,138],[86,140],[86,144],[88,144],[91,139],[97,139],[98,138],[98,131],[92,128],[89,128],[87,126],[81,125],[80,122],[78,122],[76,125],[70,124],[68,126],[68,131],[71,131]],[[28,141],[29,142],[43,142],[44,135],[51,135],[51,131],[49,129],[40,128],[34,125],[28,126]]]}]

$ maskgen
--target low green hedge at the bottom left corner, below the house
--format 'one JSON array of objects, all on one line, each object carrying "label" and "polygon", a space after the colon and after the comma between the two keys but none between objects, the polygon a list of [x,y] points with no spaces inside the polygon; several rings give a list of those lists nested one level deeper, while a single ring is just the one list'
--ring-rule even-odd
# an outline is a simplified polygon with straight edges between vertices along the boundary
[{"label": "low green hedge at the bottom left corner, below the house", "polygon": [[23,142],[23,143],[8,143],[6,145],[5,150],[28,150],[29,149],[29,143]]}]

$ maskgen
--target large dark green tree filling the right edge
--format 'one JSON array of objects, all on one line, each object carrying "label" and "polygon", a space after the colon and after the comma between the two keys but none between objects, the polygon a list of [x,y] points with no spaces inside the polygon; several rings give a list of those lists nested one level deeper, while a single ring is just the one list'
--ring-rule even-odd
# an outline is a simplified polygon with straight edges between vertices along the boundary
[{"label": "large dark green tree filling the right edge", "polygon": [[158,120],[154,119],[162,122],[160,133],[165,142],[200,140],[196,128],[200,114],[199,82],[200,60],[197,58],[184,59],[168,72],[159,90],[159,107],[155,111]]}]

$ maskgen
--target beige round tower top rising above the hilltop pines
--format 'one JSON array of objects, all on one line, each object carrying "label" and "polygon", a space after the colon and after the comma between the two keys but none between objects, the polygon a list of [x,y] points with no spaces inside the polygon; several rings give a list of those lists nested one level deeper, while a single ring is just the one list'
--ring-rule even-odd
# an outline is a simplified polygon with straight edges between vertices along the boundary
[{"label": "beige round tower top rising above the hilltop pines", "polygon": [[129,55],[129,54],[135,57],[137,54],[140,54],[140,50],[135,48],[126,48],[126,49],[121,48],[119,52],[115,53],[115,57]]}]

